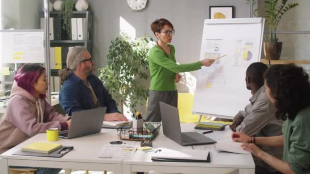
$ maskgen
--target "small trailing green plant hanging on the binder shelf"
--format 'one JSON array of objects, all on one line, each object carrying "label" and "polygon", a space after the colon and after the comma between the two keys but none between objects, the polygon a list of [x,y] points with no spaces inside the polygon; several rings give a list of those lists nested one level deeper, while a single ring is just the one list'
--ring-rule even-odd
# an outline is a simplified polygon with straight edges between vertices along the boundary
[{"label": "small trailing green plant hanging on the binder shelf", "polygon": [[71,16],[73,11],[73,1],[67,0],[61,5],[61,17],[63,18],[63,28],[66,30],[67,34],[71,36]]}]

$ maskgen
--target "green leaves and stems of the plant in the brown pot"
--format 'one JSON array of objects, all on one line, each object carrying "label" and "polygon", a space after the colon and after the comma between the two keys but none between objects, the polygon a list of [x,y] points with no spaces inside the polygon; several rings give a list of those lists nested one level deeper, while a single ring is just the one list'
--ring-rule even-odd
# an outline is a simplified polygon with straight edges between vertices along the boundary
[{"label": "green leaves and stems of the plant in the brown pot", "polygon": [[[249,0],[245,0],[246,4],[250,4]],[[253,0],[253,5],[256,3],[256,0]],[[278,3],[278,0],[267,0],[265,1],[265,13],[266,13],[266,22],[269,25],[269,31],[275,32],[277,31],[278,24],[282,16],[293,9],[294,7],[298,6],[298,3],[288,3],[288,0],[281,0],[281,3]],[[259,15],[259,9],[253,10],[253,14]],[[256,16],[257,17],[257,16]],[[276,33],[265,34],[265,41],[267,42],[277,42],[278,38]]]}]

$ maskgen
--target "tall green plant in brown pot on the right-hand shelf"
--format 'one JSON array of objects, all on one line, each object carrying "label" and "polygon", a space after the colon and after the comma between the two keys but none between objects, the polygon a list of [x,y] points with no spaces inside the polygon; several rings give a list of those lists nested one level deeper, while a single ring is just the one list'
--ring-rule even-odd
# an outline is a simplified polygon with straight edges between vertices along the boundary
[{"label": "tall green plant in brown pot on the right-hand shelf", "polygon": [[[282,16],[290,9],[298,6],[298,3],[287,3],[288,0],[282,0],[278,3],[278,0],[267,0],[265,1],[265,13],[266,22],[269,25],[269,34],[264,34],[264,54],[268,60],[279,60],[282,50],[282,42],[278,41],[276,31],[278,24]],[[246,0],[249,4],[249,0]],[[253,5],[256,3],[253,0]],[[260,14],[259,10],[253,10],[254,15]]]}]

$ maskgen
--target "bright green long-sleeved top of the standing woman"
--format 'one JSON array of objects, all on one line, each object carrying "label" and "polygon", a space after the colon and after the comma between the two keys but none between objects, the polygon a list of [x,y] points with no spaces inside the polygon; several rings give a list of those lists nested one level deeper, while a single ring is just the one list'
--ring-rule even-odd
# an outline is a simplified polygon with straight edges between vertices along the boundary
[{"label": "bright green long-sleeved top of the standing woman", "polygon": [[179,72],[188,72],[201,69],[200,62],[191,64],[176,64],[175,49],[170,47],[170,55],[166,54],[163,49],[155,45],[148,55],[149,71],[151,74],[150,90],[153,91],[175,91],[175,74]]}]

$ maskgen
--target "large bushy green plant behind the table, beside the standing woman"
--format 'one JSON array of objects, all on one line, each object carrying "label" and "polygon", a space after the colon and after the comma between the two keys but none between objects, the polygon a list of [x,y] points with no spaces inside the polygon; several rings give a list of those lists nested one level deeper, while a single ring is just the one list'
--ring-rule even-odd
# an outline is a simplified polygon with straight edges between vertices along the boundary
[{"label": "large bushy green plant behind the table, beside the standing woman", "polygon": [[122,112],[124,106],[136,112],[137,105],[142,105],[147,98],[148,90],[138,80],[148,79],[147,56],[152,46],[150,37],[131,40],[124,33],[111,41],[107,66],[99,69],[99,78],[121,105]]}]

